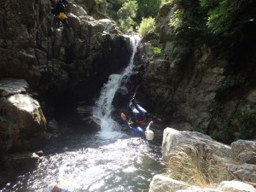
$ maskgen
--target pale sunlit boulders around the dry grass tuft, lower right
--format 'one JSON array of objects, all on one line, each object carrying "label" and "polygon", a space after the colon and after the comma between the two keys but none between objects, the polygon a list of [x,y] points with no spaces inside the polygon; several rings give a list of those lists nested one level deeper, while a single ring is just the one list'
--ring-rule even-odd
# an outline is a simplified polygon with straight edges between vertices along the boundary
[{"label": "pale sunlit boulders around the dry grass tuft, lower right", "polygon": [[[221,172],[224,172],[224,169],[229,173],[228,178],[234,179],[233,181],[220,181],[218,183],[214,183],[213,188],[205,188],[201,189],[199,186],[191,185],[189,183],[183,181],[177,181],[172,178],[173,170],[168,170],[168,172],[164,173],[164,175],[155,175],[150,183],[149,192],[156,191],[222,191],[222,192],[252,192],[256,191],[253,188],[253,185],[256,182],[256,167],[253,164],[244,164],[244,159],[239,159],[239,155],[244,152],[251,151],[253,153],[254,142],[253,141],[242,141],[239,140],[230,146],[224,145],[222,143],[218,143],[214,141],[211,137],[203,135],[199,132],[195,131],[177,131],[172,128],[166,128],[164,131],[163,143],[162,143],[162,157],[165,162],[169,162],[170,164],[175,163],[172,162],[171,159],[173,155],[172,152],[178,146],[183,144],[193,145],[200,156],[196,160],[207,159],[210,156],[215,160],[219,160],[221,164],[223,164],[223,168],[221,168],[218,172],[218,175],[221,175]],[[184,151],[176,151],[176,153],[183,154]],[[189,150],[186,151],[193,159],[195,158],[195,154],[189,153]],[[250,154],[250,153],[249,153]],[[212,159],[212,160],[213,160]],[[238,161],[237,161],[238,160]],[[182,160],[180,160],[182,161]],[[187,162],[186,167],[184,169],[188,169],[189,160]],[[213,162],[213,161],[212,161]],[[199,163],[197,161],[197,163]],[[209,162],[207,162],[209,163]],[[182,171],[183,167],[176,165],[179,167],[179,170]],[[200,166],[199,166],[200,167]],[[214,169],[217,169],[217,166],[214,166]],[[207,170],[207,169],[204,169]],[[194,172],[195,173],[195,172]],[[180,175],[186,174],[186,172],[179,172]],[[196,172],[195,174],[198,174]],[[168,176],[168,177],[167,177]],[[212,175],[213,176],[213,175]],[[193,175],[196,177],[196,175]],[[214,181],[214,177],[211,178]],[[188,182],[191,182],[192,178],[189,178]],[[250,184],[252,183],[252,184]],[[200,184],[200,183],[198,183]],[[213,185],[212,185],[213,186]]]}]

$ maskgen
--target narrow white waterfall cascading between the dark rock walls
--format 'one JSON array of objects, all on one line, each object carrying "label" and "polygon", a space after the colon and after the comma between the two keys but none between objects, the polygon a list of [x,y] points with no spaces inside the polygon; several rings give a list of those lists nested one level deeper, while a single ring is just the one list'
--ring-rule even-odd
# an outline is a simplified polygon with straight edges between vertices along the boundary
[{"label": "narrow white waterfall cascading between the dark rock walls", "polygon": [[101,94],[93,108],[93,116],[100,120],[100,122],[98,122],[101,125],[101,131],[99,132],[100,137],[111,138],[121,135],[119,131],[115,131],[118,130],[119,125],[111,118],[111,112],[113,110],[113,96],[118,90],[121,80],[125,76],[129,77],[131,70],[134,67],[134,56],[140,38],[138,36],[131,36],[129,39],[131,42],[132,53],[128,66],[122,73],[111,74],[108,77],[108,82],[103,85]]}]

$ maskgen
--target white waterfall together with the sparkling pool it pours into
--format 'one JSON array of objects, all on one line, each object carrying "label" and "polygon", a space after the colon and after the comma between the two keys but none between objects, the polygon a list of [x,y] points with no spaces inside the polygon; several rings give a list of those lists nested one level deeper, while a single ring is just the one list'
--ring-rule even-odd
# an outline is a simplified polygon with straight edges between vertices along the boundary
[{"label": "white waterfall together with the sparkling pool it pours into", "polygon": [[121,79],[131,72],[137,41],[131,38],[135,44],[128,67],[109,77],[96,102],[94,115],[100,119],[102,131],[50,140],[37,169],[20,174],[0,188],[1,192],[47,192],[52,182],[61,182],[74,192],[148,191],[152,177],[164,168],[160,145],[118,131],[120,125],[111,119],[113,95]]}]

